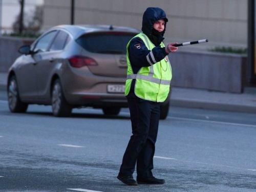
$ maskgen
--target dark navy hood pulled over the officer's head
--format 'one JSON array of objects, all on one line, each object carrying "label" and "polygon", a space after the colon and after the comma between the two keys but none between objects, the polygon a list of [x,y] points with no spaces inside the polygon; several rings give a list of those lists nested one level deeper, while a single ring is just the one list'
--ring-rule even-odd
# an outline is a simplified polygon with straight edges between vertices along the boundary
[{"label": "dark navy hood pulled over the officer's head", "polygon": [[153,25],[159,19],[165,20],[164,30],[162,33],[163,36],[165,32],[166,23],[168,22],[164,10],[158,7],[148,7],[145,10],[142,18],[142,32],[145,33],[147,36],[151,36]]}]

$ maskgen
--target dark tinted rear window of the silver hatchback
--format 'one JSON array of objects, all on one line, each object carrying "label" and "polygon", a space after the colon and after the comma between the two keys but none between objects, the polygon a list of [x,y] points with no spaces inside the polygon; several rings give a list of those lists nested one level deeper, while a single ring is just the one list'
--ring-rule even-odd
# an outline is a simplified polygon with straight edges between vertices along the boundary
[{"label": "dark tinted rear window of the silver hatchback", "polygon": [[92,53],[126,54],[126,45],[135,35],[126,32],[93,33],[83,35],[76,41],[83,49]]}]

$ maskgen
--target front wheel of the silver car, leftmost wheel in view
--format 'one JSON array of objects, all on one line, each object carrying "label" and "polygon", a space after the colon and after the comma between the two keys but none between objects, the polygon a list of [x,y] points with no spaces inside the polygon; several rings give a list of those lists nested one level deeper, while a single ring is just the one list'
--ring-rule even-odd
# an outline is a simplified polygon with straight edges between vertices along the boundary
[{"label": "front wheel of the silver car, leftmost wheel in view", "polygon": [[19,98],[17,80],[12,76],[8,81],[8,105],[12,113],[25,113],[28,109],[28,104],[24,103]]}]

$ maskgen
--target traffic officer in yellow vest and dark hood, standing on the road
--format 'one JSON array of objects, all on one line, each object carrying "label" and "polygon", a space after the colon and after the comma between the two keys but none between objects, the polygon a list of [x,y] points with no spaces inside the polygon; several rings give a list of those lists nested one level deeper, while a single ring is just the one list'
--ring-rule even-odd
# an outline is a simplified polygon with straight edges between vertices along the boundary
[{"label": "traffic officer in yellow vest and dark hood, standing on the road", "polygon": [[[169,93],[172,69],[167,55],[177,51],[173,45],[163,44],[166,23],[160,8],[147,8],[143,14],[142,32],[127,44],[127,98],[132,136],[123,155],[117,178],[127,185],[163,184],[165,180],[153,176],[153,157],[160,118],[160,102]],[[133,178],[135,166],[137,181]]]}]

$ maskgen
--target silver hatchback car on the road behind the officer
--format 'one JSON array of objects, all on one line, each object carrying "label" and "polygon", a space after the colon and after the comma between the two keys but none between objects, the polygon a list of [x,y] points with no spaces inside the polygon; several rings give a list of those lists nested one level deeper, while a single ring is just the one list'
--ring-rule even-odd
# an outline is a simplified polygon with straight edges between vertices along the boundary
[{"label": "silver hatchback car on the road behind the officer", "polygon": [[[67,117],[73,108],[92,106],[105,115],[127,107],[126,45],[140,31],[105,25],[61,25],[19,48],[9,69],[8,103],[13,113],[29,104],[52,105],[53,115]],[[169,97],[161,105],[161,119]]]}]

